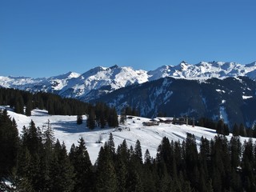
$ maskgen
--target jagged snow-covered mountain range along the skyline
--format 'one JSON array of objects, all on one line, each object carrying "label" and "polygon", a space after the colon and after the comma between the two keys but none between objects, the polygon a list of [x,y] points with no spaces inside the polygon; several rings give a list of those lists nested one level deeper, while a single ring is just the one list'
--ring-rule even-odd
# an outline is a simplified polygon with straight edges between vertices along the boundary
[{"label": "jagged snow-covered mountain range along the skyline", "polygon": [[0,76],[0,86],[45,91],[66,98],[89,101],[119,88],[150,82],[159,78],[208,79],[247,76],[256,79],[256,62],[242,65],[236,62],[200,62],[192,65],[161,66],[156,70],[134,70],[130,66],[98,66],[83,74],[69,72],[50,78]]}]

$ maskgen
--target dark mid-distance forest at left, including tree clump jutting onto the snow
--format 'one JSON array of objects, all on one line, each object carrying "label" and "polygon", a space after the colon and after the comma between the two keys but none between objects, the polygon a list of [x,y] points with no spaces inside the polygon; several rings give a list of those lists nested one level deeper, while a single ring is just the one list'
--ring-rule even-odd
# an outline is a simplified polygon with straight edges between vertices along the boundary
[{"label": "dark mid-distance forest at left, including tree clump jutting onto the snow", "polygon": [[74,98],[61,98],[56,94],[42,92],[33,94],[23,90],[0,88],[0,106],[10,106],[14,112],[27,116],[30,116],[31,110],[36,108],[47,110],[51,115],[78,115],[78,123],[82,123],[82,114],[86,114],[86,126],[91,130],[97,126],[102,128],[107,125],[118,126],[118,114],[114,107],[102,102],[93,105]]}]

